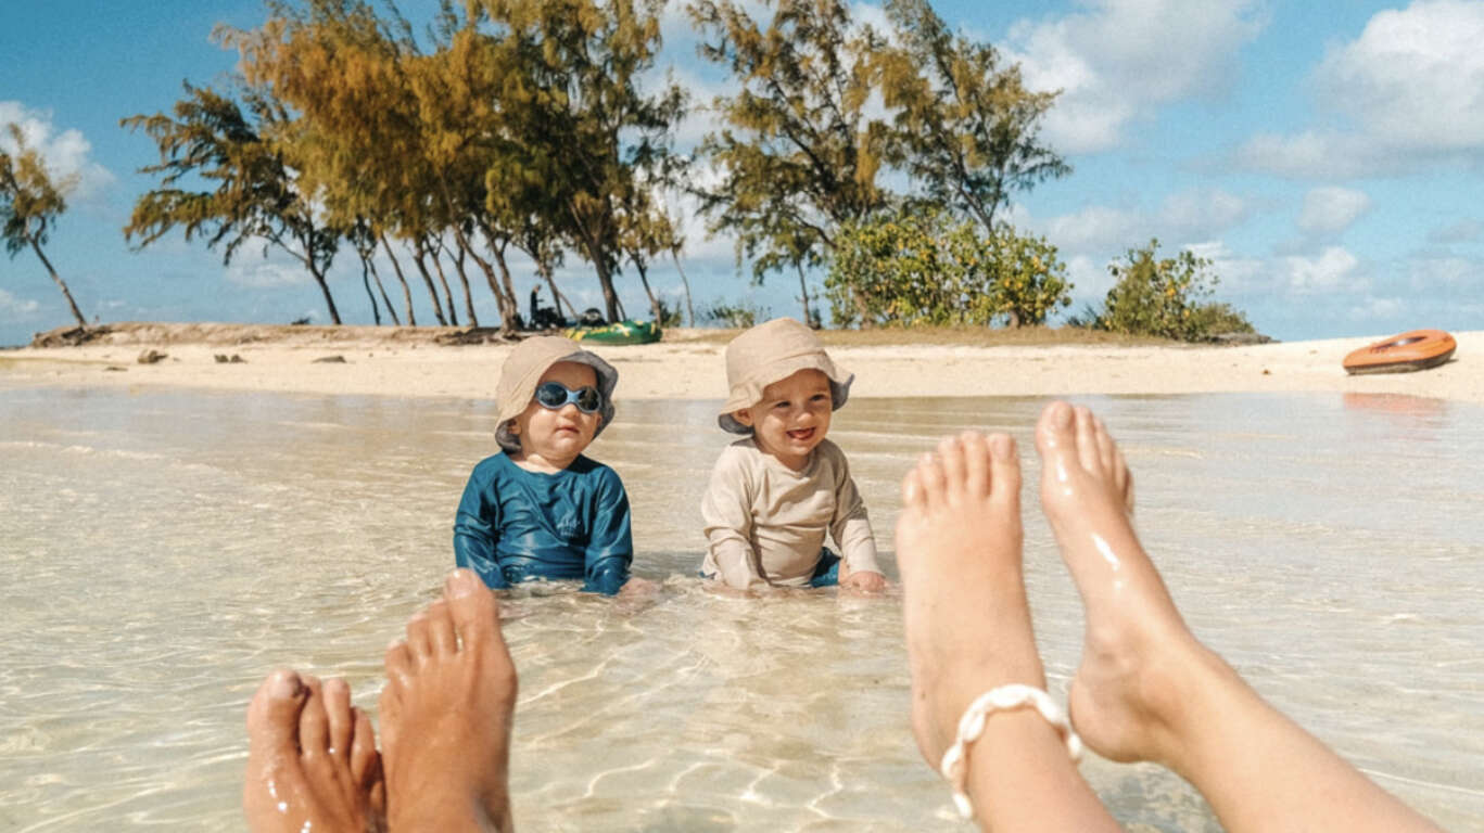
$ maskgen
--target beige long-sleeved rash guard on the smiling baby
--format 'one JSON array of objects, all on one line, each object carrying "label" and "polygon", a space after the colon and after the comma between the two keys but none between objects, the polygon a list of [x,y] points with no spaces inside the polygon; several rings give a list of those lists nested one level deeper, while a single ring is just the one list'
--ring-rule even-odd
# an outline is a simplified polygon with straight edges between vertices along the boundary
[{"label": "beige long-sleeved rash guard on the smiling baby", "polygon": [[865,502],[840,446],[821,442],[794,471],[752,437],[727,446],[700,500],[706,560],[700,572],[729,587],[806,587],[825,534],[850,572],[881,572]]}]

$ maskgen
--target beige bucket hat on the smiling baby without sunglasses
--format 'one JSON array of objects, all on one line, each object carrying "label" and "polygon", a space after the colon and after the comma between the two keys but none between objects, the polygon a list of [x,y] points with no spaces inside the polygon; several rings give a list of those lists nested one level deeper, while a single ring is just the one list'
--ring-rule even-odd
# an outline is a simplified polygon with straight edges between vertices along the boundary
[{"label": "beige bucket hat on the smiling baby without sunglasses", "polygon": [[830,378],[831,411],[838,411],[850,396],[855,375],[835,368],[819,336],[794,319],[773,319],[757,325],[727,344],[727,388],[730,396],[717,415],[717,424],[733,434],[751,434],[732,414],[763,400],[763,388],[798,371],[819,371]]}]

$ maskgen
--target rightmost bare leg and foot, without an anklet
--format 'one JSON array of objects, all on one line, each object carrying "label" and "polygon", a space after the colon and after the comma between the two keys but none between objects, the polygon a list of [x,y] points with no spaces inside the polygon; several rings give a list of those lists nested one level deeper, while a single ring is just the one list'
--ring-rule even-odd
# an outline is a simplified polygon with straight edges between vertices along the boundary
[{"label": "rightmost bare leg and foot, without an anklet", "polygon": [[1042,505],[1086,606],[1071,719],[1092,750],[1169,766],[1233,833],[1437,830],[1196,640],[1129,523],[1123,455],[1088,409],[1048,406],[1036,446]]}]

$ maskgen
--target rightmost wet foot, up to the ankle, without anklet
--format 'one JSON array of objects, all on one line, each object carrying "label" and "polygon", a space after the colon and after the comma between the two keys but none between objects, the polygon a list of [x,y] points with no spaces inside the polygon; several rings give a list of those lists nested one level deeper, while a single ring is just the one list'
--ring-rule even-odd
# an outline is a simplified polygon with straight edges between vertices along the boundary
[{"label": "rightmost wet foot, up to the ankle, without anklet", "polygon": [[1036,425],[1036,448],[1042,508],[1086,608],[1073,726],[1104,757],[1169,763],[1183,686],[1193,668],[1220,660],[1186,628],[1134,532],[1132,477],[1103,422],[1055,402]]}]

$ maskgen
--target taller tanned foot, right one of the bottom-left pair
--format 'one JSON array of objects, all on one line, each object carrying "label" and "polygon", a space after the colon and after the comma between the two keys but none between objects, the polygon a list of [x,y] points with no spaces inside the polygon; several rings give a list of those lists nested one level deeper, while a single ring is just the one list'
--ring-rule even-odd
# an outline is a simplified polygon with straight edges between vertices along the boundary
[{"label": "taller tanned foot, right one of the bottom-left pair", "polygon": [[515,666],[494,596],[454,571],[444,597],[386,654],[381,692],[393,830],[513,830],[509,796]]}]

